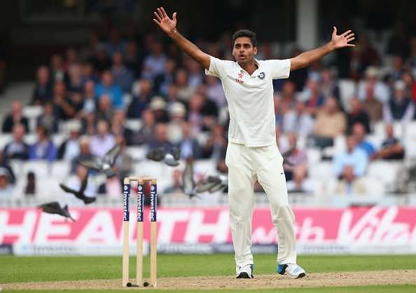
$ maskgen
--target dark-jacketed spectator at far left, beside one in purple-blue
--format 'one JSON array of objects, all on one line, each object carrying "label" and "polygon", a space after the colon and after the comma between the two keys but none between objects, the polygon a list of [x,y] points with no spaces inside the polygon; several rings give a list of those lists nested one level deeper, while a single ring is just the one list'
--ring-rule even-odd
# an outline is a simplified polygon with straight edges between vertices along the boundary
[{"label": "dark-jacketed spectator at far left, beside one in purple-blue", "polygon": [[25,127],[22,124],[16,124],[13,127],[13,140],[6,144],[3,150],[3,156],[6,159],[27,160],[29,158],[29,145],[23,141],[25,136]]}]

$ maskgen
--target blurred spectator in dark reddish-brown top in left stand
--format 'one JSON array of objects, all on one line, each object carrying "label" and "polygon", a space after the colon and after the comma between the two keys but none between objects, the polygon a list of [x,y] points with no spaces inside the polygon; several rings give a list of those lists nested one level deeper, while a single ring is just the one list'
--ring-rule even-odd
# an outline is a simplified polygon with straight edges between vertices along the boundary
[{"label": "blurred spectator in dark reddish-brown top in left stand", "polygon": [[74,118],[76,109],[72,104],[71,99],[67,96],[65,83],[62,81],[56,82],[53,87],[53,111],[58,119],[67,120]]}]

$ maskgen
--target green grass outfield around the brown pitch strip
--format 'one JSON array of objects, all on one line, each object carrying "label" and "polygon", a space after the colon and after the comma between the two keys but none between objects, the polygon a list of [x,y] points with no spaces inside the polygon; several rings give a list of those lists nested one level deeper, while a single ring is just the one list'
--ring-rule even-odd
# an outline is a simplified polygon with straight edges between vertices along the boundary
[{"label": "green grass outfield around the brown pitch strip", "polygon": [[[272,254],[256,255],[254,273],[273,273],[275,271],[274,258],[275,256]],[[148,263],[148,258],[144,259],[144,275],[148,275]],[[416,255],[300,256],[298,257],[298,263],[303,266],[308,273],[406,270],[416,268]],[[135,259],[132,257],[130,258],[131,278],[134,277],[134,273]],[[158,255],[158,277],[190,277],[197,275],[234,275],[234,259],[230,254]],[[0,284],[11,282],[97,279],[121,279],[121,257],[0,257]],[[275,290],[276,289],[250,289],[246,291],[275,292]],[[125,289],[100,291],[125,292]],[[156,291],[172,292],[172,290]],[[13,292],[20,291],[16,290]],[[88,292],[88,290],[50,290],[48,292]],[[191,290],[186,292],[196,291]],[[221,289],[204,290],[204,292],[242,292],[242,290]],[[416,286],[386,285],[369,287],[301,288],[284,289],[284,292],[416,292]]]}]

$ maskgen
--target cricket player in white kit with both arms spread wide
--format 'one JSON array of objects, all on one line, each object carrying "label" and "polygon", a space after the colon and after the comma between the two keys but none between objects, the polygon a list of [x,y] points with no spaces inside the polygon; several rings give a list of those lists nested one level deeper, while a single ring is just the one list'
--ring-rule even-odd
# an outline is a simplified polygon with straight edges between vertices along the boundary
[{"label": "cricket player in white kit with both arms spread wide", "polygon": [[251,219],[254,210],[254,183],[267,193],[272,222],[277,230],[277,273],[302,278],[305,270],[296,264],[295,216],[286,189],[283,158],[276,144],[273,79],[287,79],[290,71],[307,67],[332,50],[354,46],[351,30],[337,35],[320,48],[286,60],[257,60],[256,34],[241,29],[233,36],[236,62],[219,60],[202,52],[176,29],[176,12],[169,18],[157,8],[153,21],[187,55],[205,68],[205,73],[221,79],[230,111],[228,130],[228,203],[230,228],[235,250],[237,278],[254,278],[251,254]]}]

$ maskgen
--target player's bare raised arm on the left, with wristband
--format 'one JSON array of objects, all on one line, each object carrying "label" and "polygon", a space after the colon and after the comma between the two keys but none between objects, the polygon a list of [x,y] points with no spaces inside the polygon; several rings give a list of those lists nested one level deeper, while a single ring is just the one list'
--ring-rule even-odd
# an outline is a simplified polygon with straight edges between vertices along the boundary
[{"label": "player's bare raised arm on the left, with wristband", "polygon": [[167,16],[165,8],[160,7],[157,12],[153,12],[155,18],[153,21],[165,32],[174,42],[189,55],[193,60],[198,62],[202,67],[209,69],[209,62],[211,61],[207,53],[202,52],[200,48],[191,43],[184,36],[179,34],[176,30],[176,12],[172,15],[172,19]]}]

